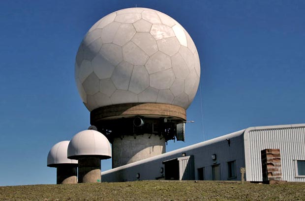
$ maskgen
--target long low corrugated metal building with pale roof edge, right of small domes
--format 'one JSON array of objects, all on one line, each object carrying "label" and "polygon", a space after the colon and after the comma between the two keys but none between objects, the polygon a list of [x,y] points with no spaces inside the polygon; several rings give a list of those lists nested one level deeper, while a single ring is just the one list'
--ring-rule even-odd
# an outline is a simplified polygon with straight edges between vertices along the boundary
[{"label": "long low corrugated metal building with pale roof edge, right of small domes", "polygon": [[247,181],[262,181],[260,151],[264,149],[280,150],[283,180],[305,182],[305,124],[250,127],[102,172],[102,180],[164,179],[166,171],[173,171],[173,166],[167,170],[162,162],[192,156],[193,169],[186,169],[185,164],[178,167],[180,176],[193,174],[196,180],[240,180],[240,168],[245,167]]}]

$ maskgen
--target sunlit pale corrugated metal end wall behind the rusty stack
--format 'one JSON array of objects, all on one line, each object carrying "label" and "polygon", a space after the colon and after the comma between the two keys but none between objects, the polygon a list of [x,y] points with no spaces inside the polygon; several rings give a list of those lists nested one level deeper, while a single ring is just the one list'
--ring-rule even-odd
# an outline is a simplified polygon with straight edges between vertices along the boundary
[{"label": "sunlit pale corrugated metal end wall behind the rusty stack", "polygon": [[283,180],[305,181],[295,176],[294,161],[305,160],[305,125],[248,128],[244,143],[247,180],[262,181],[261,150],[279,149]]}]

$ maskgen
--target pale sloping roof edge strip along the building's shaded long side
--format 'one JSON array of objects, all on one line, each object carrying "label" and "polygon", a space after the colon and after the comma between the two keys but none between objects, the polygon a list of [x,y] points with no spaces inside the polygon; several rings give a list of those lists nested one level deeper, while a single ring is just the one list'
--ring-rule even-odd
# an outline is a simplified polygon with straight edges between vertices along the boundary
[{"label": "pale sloping roof edge strip along the building's shaded long side", "polygon": [[157,159],[160,159],[160,158],[171,156],[171,155],[181,153],[181,152],[184,152],[184,151],[189,151],[189,150],[197,149],[197,148],[200,148],[200,147],[204,147],[204,146],[212,145],[212,144],[215,144],[215,143],[219,143],[219,142],[222,142],[222,141],[226,141],[227,139],[231,139],[231,138],[235,138],[235,137],[244,135],[244,131],[245,131],[245,129],[240,130],[240,131],[236,131],[236,132],[233,132],[233,133],[230,133],[230,134],[226,134],[226,135],[223,135],[223,136],[220,136],[220,137],[216,137],[216,138],[213,138],[211,140],[200,142],[200,143],[197,143],[197,144],[194,144],[194,145],[190,145],[190,146],[178,149],[178,150],[169,151],[169,152],[157,155],[157,156],[153,156],[153,157],[150,157],[150,158],[147,158],[147,159],[144,159],[144,160],[134,162],[134,163],[129,163],[129,164],[123,165],[121,167],[117,167],[117,168],[114,168],[114,169],[111,169],[111,170],[104,171],[101,174],[106,175],[106,174],[109,174],[109,173],[112,173],[112,172],[116,172],[116,171],[119,171],[119,170],[130,168],[130,167],[133,167],[133,166],[136,166],[136,165],[147,163],[147,162],[150,162],[150,161],[153,161],[153,160],[157,160]]}]

